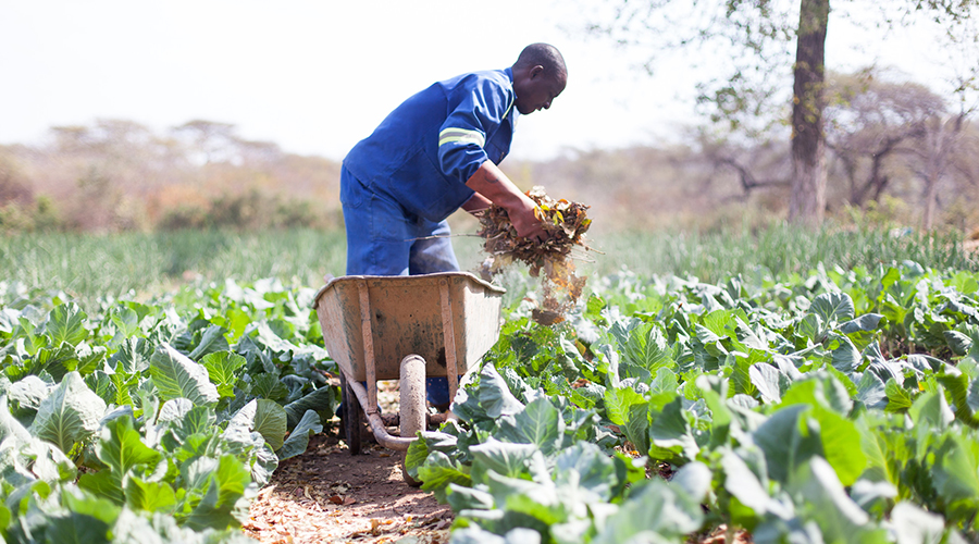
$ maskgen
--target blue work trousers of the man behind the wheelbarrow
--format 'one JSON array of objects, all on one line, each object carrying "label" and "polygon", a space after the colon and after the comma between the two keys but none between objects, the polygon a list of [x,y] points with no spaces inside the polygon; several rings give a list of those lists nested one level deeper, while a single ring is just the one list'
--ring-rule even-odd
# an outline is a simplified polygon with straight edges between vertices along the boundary
[{"label": "blue work trousers of the man behind the wheelbarrow", "polygon": [[[347,232],[347,275],[418,275],[459,270],[446,221],[409,213],[393,197],[374,191],[344,168],[340,202]],[[446,378],[425,380],[433,405],[451,401]]]}]

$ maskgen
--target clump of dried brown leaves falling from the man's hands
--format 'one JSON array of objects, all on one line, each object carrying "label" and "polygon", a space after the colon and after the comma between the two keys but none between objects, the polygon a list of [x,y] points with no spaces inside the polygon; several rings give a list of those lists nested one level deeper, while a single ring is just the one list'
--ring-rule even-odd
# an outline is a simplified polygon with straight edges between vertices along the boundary
[{"label": "clump of dried brown leaves falling from the man's hands", "polygon": [[587,218],[587,206],[555,200],[543,187],[534,187],[526,196],[537,205],[538,219],[549,237],[541,243],[519,237],[507,211],[493,205],[480,214],[479,235],[486,239],[483,249],[490,254],[483,270],[493,275],[515,261],[530,267],[532,276],[542,277],[544,292],[544,300],[534,310],[533,318],[541,324],[552,325],[563,321],[565,312],[581,297],[587,277],[574,274],[572,251],[575,246],[590,249],[585,232],[592,220]]}]

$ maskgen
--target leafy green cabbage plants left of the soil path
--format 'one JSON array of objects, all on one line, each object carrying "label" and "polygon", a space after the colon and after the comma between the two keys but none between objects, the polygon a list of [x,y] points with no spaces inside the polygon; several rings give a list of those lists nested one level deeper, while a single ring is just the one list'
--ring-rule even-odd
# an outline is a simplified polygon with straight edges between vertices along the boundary
[{"label": "leafy green cabbage plants left of the soil path", "polygon": [[0,316],[8,542],[241,540],[258,489],[336,408],[315,319],[276,282]]}]

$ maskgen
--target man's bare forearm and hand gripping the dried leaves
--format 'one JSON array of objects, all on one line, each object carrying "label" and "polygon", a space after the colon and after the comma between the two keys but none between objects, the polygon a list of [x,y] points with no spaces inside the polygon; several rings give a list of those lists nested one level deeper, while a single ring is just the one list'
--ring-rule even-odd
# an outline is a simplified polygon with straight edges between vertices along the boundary
[{"label": "man's bare forearm and hand gripping the dried leaves", "polygon": [[475,173],[466,182],[466,186],[476,191],[473,198],[463,206],[466,211],[481,209],[479,206],[483,206],[485,202],[475,199],[482,196],[483,200],[499,205],[507,210],[507,217],[510,218],[510,223],[517,228],[518,236],[538,242],[547,239],[544,224],[534,214],[537,206],[530,197],[518,189],[513,182],[492,161],[483,161]]}]

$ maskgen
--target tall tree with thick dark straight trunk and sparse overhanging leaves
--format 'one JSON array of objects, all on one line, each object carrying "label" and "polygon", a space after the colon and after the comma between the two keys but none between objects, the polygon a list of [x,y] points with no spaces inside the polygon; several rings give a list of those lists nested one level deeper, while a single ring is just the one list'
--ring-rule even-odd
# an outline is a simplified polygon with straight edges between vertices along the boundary
[{"label": "tall tree with thick dark straight trunk and sparse overhanging leaves", "polygon": [[[611,4],[611,14],[596,15],[590,29],[649,51],[647,70],[655,66],[659,51],[676,48],[693,48],[705,60],[726,60],[727,74],[698,87],[698,102],[712,121],[756,138],[773,137],[773,127],[790,124],[789,219],[819,224],[826,206],[822,113],[829,0],[614,0]],[[963,25],[977,5],[977,0],[902,0],[876,8],[879,26],[927,17],[954,36],[965,32]],[[789,96],[781,90],[788,88],[788,77],[793,81]]]}]

